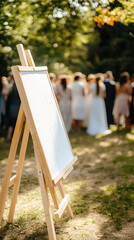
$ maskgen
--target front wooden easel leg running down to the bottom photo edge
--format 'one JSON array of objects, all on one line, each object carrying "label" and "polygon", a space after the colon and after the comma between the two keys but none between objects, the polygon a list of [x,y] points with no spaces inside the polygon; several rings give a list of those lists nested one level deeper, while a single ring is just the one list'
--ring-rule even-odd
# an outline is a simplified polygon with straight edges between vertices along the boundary
[{"label": "front wooden easel leg running down to the bottom photo edge", "polygon": [[35,153],[35,156],[36,156],[38,177],[39,177],[39,183],[40,183],[41,194],[42,194],[43,207],[44,207],[45,216],[46,216],[46,224],[47,224],[47,229],[48,229],[48,236],[49,236],[50,240],[56,240],[56,233],[55,233],[55,228],[54,228],[54,222],[53,222],[53,216],[52,216],[52,212],[51,212],[51,207],[50,207],[50,203],[49,203],[47,186],[46,186],[46,182],[45,182],[45,179],[43,177],[43,173],[42,173],[40,164],[38,162],[36,153]]}]

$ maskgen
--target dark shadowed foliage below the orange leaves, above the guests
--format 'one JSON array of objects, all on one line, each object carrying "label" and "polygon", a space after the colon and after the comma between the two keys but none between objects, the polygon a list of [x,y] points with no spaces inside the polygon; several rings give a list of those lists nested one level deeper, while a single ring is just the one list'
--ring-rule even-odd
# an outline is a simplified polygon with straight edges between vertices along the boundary
[{"label": "dark shadowed foliage below the orange leaves, above the guests", "polygon": [[98,28],[100,42],[98,45],[98,60],[95,63],[96,71],[105,72],[112,70],[115,79],[123,71],[134,71],[134,37],[131,32],[134,24],[125,26],[122,23],[115,23],[114,27],[105,24]]}]

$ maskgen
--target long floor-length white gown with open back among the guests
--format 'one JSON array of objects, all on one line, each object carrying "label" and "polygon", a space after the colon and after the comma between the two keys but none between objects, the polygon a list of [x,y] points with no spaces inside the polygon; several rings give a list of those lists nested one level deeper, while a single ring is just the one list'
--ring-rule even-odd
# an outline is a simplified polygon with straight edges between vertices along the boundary
[{"label": "long floor-length white gown with open back among the guests", "polygon": [[87,133],[90,135],[96,135],[99,133],[104,133],[108,130],[107,117],[105,102],[102,97],[105,91],[105,85],[100,83],[99,95],[96,95],[96,83],[90,85],[90,91],[92,94],[90,109],[89,109],[89,120]]}]

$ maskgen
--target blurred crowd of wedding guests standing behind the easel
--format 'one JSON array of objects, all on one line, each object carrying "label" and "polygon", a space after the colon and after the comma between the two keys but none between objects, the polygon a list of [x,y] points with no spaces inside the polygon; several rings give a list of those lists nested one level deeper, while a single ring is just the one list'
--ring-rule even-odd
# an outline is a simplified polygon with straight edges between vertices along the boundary
[{"label": "blurred crowd of wedding guests standing behind the easel", "polygon": [[[114,79],[112,71],[89,74],[55,75],[50,80],[67,132],[86,129],[87,134],[110,133],[112,125],[134,126],[134,74],[122,72]],[[12,73],[0,81],[0,134],[6,129],[11,141],[20,98]]]}]

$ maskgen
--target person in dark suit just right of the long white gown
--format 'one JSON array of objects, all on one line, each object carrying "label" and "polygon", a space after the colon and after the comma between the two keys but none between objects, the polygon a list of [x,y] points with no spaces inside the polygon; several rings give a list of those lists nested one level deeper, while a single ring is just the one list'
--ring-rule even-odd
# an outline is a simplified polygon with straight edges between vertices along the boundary
[{"label": "person in dark suit just right of the long white gown", "polygon": [[116,86],[114,82],[114,77],[111,71],[107,71],[105,74],[104,84],[106,86],[106,98],[105,98],[105,105],[106,105],[106,113],[107,113],[107,123],[108,126],[114,124],[113,118],[113,106],[116,94]]}]

